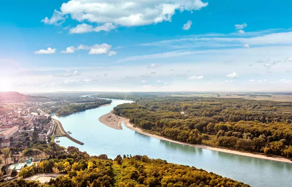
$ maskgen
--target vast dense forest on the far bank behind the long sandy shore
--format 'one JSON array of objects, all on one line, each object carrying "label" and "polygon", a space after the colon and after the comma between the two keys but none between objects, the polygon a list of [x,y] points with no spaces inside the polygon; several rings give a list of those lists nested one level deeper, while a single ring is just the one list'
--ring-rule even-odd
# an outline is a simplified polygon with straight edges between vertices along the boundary
[{"label": "vast dense forest on the far bank behind the long sandy shore", "polygon": [[292,157],[292,102],[151,97],[114,110],[173,140]]}]

